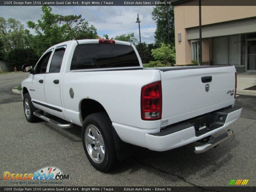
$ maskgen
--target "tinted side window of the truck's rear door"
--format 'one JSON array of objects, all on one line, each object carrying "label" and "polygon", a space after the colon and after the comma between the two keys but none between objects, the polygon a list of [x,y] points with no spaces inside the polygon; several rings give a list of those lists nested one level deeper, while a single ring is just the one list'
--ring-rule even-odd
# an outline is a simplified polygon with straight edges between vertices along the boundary
[{"label": "tinted side window of the truck's rear door", "polygon": [[59,73],[61,70],[61,63],[63,60],[63,56],[65,53],[65,48],[56,49],[53,54],[53,58],[51,59],[51,65],[49,73]]}]

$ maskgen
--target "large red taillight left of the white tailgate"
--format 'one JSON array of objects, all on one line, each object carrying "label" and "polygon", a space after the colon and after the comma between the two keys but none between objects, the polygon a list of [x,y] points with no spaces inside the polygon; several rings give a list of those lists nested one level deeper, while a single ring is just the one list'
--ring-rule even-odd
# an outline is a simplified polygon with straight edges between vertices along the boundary
[{"label": "large red taillight left of the white tailgate", "polygon": [[145,85],[141,89],[141,119],[157,120],[162,115],[161,81]]}]

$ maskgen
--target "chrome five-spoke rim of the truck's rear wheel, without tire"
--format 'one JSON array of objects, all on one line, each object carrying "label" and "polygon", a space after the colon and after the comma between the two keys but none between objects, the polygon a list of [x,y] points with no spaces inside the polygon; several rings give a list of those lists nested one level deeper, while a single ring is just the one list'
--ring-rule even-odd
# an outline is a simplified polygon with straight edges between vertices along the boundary
[{"label": "chrome five-spoke rim of the truck's rear wheel, without tire", "polygon": [[85,131],[86,149],[94,162],[102,163],[105,157],[105,146],[101,132],[94,125],[88,125]]}]

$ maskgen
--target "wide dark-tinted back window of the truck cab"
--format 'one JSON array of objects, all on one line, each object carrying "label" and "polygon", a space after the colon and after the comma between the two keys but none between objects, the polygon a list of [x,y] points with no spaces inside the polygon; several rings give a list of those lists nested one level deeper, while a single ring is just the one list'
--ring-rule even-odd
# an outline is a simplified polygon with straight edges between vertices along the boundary
[{"label": "wide dark-tinted back window of the truck cab", "polygon": [[71,62],[71,70],[111,67],[139,67],[133,47],[118,44],[79,44]]}]

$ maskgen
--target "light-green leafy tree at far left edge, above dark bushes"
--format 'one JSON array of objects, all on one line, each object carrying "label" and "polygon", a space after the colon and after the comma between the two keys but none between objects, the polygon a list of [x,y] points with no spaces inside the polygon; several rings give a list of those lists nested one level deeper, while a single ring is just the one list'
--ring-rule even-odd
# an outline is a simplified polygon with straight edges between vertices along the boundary
[{"label": "light-green leafy tree at far left edge, above dark bushes", "polygon": [[13,18],[6,21],[5,18],[0,17],[0,39],[3,52],[7,53],[15,48],[27,47],[26,35],[27,31],[24,30],[21,22]]}]

